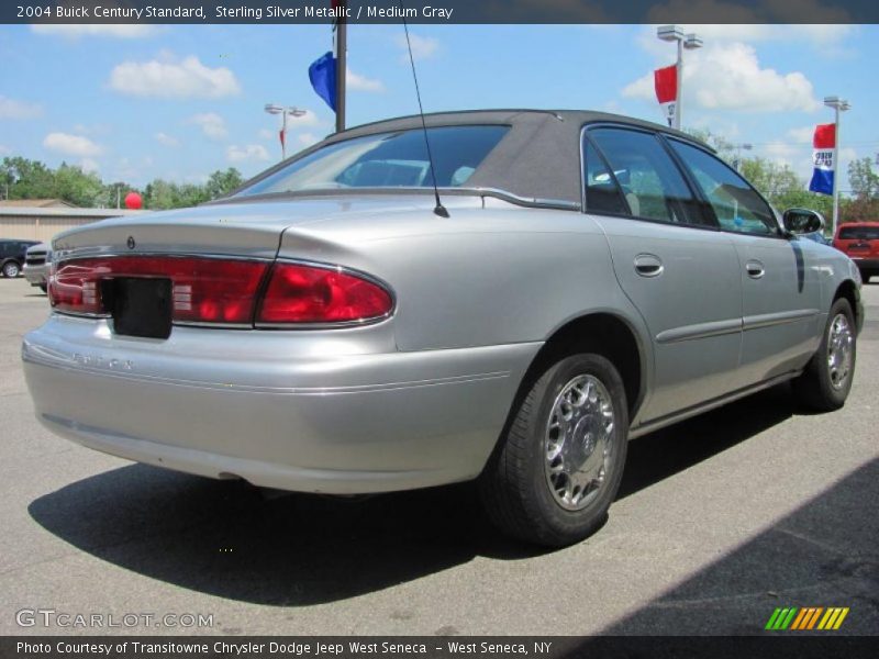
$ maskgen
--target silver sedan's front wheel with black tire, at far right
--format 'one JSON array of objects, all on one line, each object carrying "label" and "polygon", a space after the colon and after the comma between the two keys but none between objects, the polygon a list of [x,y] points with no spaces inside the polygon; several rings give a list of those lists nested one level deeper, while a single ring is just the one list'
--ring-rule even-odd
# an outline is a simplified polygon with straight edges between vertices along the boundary
[{"label": "silver sedan's front wheel with black tire, at far right", "polygon": [[[831,335],[834,334],[834,323],[838,319],[844,319],[848,328],[850,362],[845,377],[839,377],[841,369],[832,368],[831,358]],[[838,331],[837,331],[838,336]],[[839,346],[833,348],[839,355]],[[855,376],[855,362],[857,358],[857,336],[855,330],[855,315],[852,313],[852,305],[845,298],[839,298],[831,306],[827,315],[827,324],[821,337],[821,345],[814,354],[805,371],[793,381],[793,393],[798,401],[810,410],[816,412],[832,412],[845,404],[848,392],[852,390],[852,380]]]}]

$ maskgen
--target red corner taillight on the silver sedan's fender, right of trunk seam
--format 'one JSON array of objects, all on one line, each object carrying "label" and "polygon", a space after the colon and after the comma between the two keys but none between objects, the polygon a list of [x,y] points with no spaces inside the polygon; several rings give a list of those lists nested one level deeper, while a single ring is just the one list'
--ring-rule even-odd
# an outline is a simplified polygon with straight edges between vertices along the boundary
[{"label": "red corner taillight on the silver sedan's fender, right of trunk seam", "polygon": [[276,264],[259,306],[257,323],[356,323],[393,310],[380,284],[341,268]]}]

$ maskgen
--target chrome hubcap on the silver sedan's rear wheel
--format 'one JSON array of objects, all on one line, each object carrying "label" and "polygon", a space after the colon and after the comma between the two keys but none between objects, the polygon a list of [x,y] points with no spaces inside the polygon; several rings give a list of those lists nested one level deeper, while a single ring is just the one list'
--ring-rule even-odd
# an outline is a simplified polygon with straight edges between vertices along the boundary
[{"label": "chrome hubcap on the silver sedan's rear wheel", "polygon": [[593,376],[577,376],[556,396],[544,439],[544,471],[556,502],[582,510],[598,495],[610,467],[613,403]]}]

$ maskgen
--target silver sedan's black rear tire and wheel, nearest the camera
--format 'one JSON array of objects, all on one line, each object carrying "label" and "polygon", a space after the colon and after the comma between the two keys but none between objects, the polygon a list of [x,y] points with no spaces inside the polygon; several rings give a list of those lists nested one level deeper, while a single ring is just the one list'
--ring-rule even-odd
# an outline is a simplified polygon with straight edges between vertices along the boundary
[{"label": "silver sedan's black rear tire and wheel, nearest the camera", "polygon": [[[569,405],[574,422],[567,424],[571,428],[571,442],[566,446],[581,447],[580,453],[574,454],[570,463],[578,463],[577,456],[588,454],[585,458],[587,461],[581,463],[580,469],[589,466],[590,472],[594,473],[597,470],[598,473],[589,482],[589,488],[594,487],[594,490],[590,490],[588,496],[579,502],[583,507],[569,510],[559,501],[564,495],[556,493],[555,485],[559,481],[550,484],[547,472],[547,447],[558,448],[565,444],[552,444],[549,437],[554,431],[550,431],[550,414],[558,418],[564,402],[560,403],[563,407],[557,407],[556,403],[563,401],[564,392],[571,394],[571,384],[585,378],[586,383],[598,381],[603,387],[602,391],[592,384],[593,391],[598,392],[599,403],[605,395],[609,399],[613,426],[611,431],[601,434],[607,437],[603,444],[605,450],[601,454],[597,449],[589,453],[586,448],[588,445],[599,447],[602,444],[593,444],[590,439],[596,433],[581,435],[578,429],[583,433],[600,429],[600,426],[592,424],[599,423],[601,417],[588,411],[597,409],[596,403],[580,396],[578,400],[587,402],[580,403],[577,409]],[[531,386],[518,407],[511,411],[511,418],[500,438],[500,445],[480,477],[480,498],[486,513],[502,532],[528,543],[563,547],[586,538],[603,524],[608,509],[616,496],[623,476],[627,436],[625,388],[613,364],[594,354],[579,354],[560,359]],[[559,450],[559,455],[561,453]],[[567,458],[557,459],[564,466]],[[575,473],[579,478],[581,472]],[[563,483],[574,484],[574,480],[567,480],[564,474],[556,474],[555,478],[560,478]],[[574,488],[574,492],[576,490]],[[581,490],[583,491],[587,488]],[[568,505],[574,504],[568,502]]]}]

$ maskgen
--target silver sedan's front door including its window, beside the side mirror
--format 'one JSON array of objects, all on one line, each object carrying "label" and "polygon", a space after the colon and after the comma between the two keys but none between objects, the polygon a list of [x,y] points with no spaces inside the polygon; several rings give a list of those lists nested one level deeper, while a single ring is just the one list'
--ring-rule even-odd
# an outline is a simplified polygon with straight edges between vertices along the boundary
[{"label": "silver sedan's front door including its window, beside the side mirror", "polygon": [[669,138],[738,257],[743,336],[741,386],[802,368],[817,348],[821,277],[814,249],[786,238],[775,212],[734,169],[708,150]]}]

